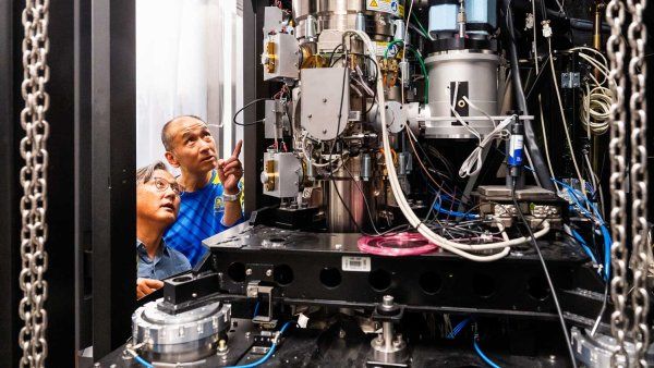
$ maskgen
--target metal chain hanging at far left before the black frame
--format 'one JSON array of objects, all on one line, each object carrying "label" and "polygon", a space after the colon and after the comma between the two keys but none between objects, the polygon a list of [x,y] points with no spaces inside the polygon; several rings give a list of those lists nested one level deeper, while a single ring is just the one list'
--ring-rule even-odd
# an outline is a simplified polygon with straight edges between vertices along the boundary
[{"label": "metal chain hanging at far left before the black frame", "polygon": [[48,20],[49,0],[25,1],[22,16],[25,28],[22,45],[24,78],[21,85],[21,95],[25,100],[25,108],[21,111],[21,126],[25,131],[25,137],[21,139],[21,156],[25,165],[20,173],[23,197],[20,203],[22,270],[19,275],[23,291],[19,315],[25,326],[19,335],[23,349],[21,367],[44,367],[48,356],[48,315],[44,308],[48,298],[48,283],[44,279],[48,267],[48,254],[45,250],[48,236],[46,142],[49,135],[46,112],[50,105],[50,97],[46,93],[46,84],[50,78],[47,64],[50,48]]}]

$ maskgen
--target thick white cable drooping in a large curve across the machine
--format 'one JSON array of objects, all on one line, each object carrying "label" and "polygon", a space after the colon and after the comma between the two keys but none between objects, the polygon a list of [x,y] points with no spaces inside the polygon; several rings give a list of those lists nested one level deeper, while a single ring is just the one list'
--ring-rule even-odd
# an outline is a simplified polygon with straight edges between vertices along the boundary
[{"label": "thick white cable drooping in a large curve across the machine", "polygon": [[[359,37],[364,41],[364,44],[366,45],[366,47],[368,49],[368,54],[375,54],[375,46],[372,44],[370,37],[365,33],[359,32],[359,30],[350,30],[350,32],[359,35]],[[379,65],[377,65],[376,68],[377,68],[377,72],[379,73],[377,75],[382,75]],[[379,98],[379,105],[384,106],[384,103],[385,103],[385,101],[384,101],[384,84],[382,82],[382,78],[377,78],[377,94],[378,94],[378,98]],[[384,113],[380,114],[380,118],[382,118],[382,126],[385,127],[386,126],[386,114],[384,114]],[[388,136],[388,130],[383,128],[382,133],[383,133],[382,134],[383,142],[384,142],[384,160],[386,163],[386,170],[388,172],[388,182],[390,184],[392,194],[396,198],[396,201],[398,203],[398,206],[400,207],[402,213],[404,214],[404,217],[407,218],[409,223],[413,228],[415,228],[419,233],[421,233],[423,236],[425,236],[427,238],[427,241],[429,241],[434,244],[437,244],[443,249],[449,250],[449,252],[457,254],[463,258],[474,260],[474,261],[482,261],[482,262],[487,262],[487,261],[493,261],[493,260],[504,258],[509,254],[511,246],[518,245],[518,244],[524,244],[524,243],[531,241],[531,238],[528,238],[528,237],[519,237],[519,238],[514,238],[514,240],[510,240],[510,241],[483,244],[483,247],[485,249],[488,249],[489,247],[502,248],[502,249],[501,249],[501,252],[495,253],[493,255],[482,256],[482,255],[474,255],[474,254],[470,254],[470,253],[465,252],[465,250],[473,250],[473,252],[483,250],[484,248],[480,248],[479,247],[480,245],[461,244],[461,243],[452,242],[450,240],[447,240],[447,238],[434,233],[426,224],[424,224],[422,222],[422,220],[413,212],[413,210],[409,206],[409,204],[407,201],[407,197],[404,197],[404,194],[402,193],[402,188],[401,188],[400,182],[398,180],[396,168],[392,162],[392,157],[390,154],[390,139]],[[547,221],[544,221],[543,229],[537,231],[534,234],[534,237],[537,238],[540,236],[543,236],[548,231],[549,231],[549,223]]]}]

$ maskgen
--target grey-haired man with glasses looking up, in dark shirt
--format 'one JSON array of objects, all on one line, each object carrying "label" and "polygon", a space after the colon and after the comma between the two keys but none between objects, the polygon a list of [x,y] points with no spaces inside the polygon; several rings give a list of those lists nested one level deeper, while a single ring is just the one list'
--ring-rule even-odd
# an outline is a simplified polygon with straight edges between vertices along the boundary
[{"label": "grey-haired man with glasses looking up, in dark shirt", "polygon": [[177,219],[181,187],[164,162],[136,171],[136,254],[138,298],[164,286],[160,281],[191,269],[183,254],[164,242],[164,231]]}]

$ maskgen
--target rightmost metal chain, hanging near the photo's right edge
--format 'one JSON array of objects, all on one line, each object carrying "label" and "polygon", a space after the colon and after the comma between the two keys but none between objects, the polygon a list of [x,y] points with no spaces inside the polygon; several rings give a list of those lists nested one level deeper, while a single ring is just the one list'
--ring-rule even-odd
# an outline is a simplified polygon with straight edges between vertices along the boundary
[{"label": "rightmost metal chain, hanging near the photo's right edge", "polygon": [[647,114],[645,106],[645,45],[647,29],[643,24],[643,11],[646,0],[627,0],[631,23],[627,38],[631,48],[629,76],[631,96],[629,98],[631,122],[631,236],[633,269],[633,308],[632,336],[635,345],[635,364],[646,367],[645,354],[649,347],[647,330],[649,295],[647,275]]}]

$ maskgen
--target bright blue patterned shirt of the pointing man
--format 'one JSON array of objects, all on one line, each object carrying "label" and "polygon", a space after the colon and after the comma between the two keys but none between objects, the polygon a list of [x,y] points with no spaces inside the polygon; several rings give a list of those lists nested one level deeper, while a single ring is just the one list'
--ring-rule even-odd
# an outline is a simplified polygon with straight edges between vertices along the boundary
[{"label": "bright blue patterned shirt of the pointing man", "polygon": [[166,230],[164,240],[171,248],[186,256],[191,266],[195,267],[207,252],[202,241],[241,223],[243,217],[231,226],[222,223],[222,184],[216,170],[207,185],[195,192],[185,192],[181,199],[178,219]]}]

